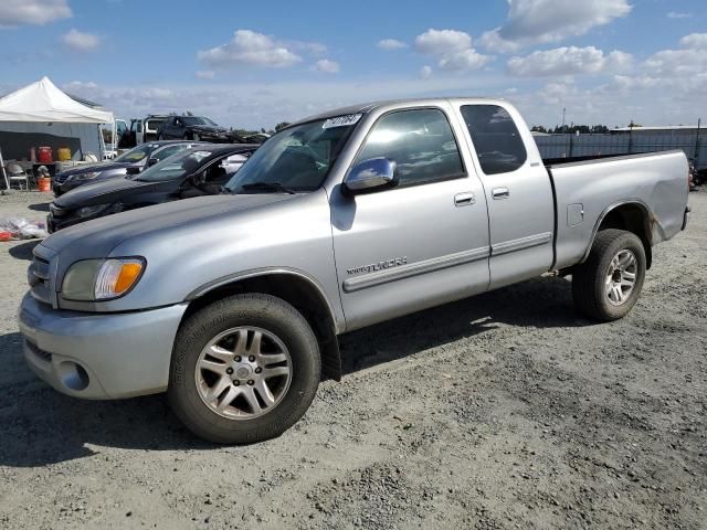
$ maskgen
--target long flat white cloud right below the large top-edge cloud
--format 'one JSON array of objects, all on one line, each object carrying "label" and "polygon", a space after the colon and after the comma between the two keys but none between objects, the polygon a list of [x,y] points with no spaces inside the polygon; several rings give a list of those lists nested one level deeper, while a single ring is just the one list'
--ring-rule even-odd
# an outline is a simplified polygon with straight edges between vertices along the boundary
[{"label": "long flat white cloud right below the large top-edge cloud", "polygon": [[631,54],[620,51],[605,55],[594,46],[562,46],[532,52],[525,57],[511,57],[507,66],[513,75],[549,77],[618,71],[629,67],[632,59]]}]

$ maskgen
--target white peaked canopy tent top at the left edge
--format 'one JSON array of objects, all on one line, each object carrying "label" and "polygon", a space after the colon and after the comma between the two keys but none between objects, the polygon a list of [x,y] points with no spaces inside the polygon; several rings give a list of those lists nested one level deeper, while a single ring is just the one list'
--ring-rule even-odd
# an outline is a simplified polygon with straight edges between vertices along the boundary
[{"label": "white peaked canopy tent top at the left edge", "polygon": [[[36,83],[0,98],[0,121],[110,124],[112,127],[115,127],[113,113],[82,105],[56,88],[49,77],[42,77]],[[6,186],[9,188],[1,151],[0,166],[4,174]]]}]

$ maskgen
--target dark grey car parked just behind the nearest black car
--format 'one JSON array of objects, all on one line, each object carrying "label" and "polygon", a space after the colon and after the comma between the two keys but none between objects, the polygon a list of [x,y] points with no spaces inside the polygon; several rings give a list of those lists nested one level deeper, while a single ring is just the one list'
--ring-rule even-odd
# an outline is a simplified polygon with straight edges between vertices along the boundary
[{"label": "dark grey car parked just behind the nearest black car", "polygon": [[126,174],[137,174],[145,168],[196,145],[198,144],[194,141],[182,140],[143,144],[110,161],[76,166],[62,171],[52,180],[52,191],[54,197],[60,197],[80,186],[125,177]]}]

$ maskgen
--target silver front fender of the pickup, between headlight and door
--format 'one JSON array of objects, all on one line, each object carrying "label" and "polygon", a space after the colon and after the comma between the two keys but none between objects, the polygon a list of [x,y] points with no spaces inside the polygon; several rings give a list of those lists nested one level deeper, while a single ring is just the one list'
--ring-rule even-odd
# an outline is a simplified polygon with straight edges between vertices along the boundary
[{"label": "silver front fender of the pickup, between headlight and door", "polygon": [[110,256],[144,256],[147,267],[133,292],[101,303],[104,310],[178,304],[220,280],[291,271],[310,279],[337,325],[344,321],[324,190],[148,232],[118,244]]}]

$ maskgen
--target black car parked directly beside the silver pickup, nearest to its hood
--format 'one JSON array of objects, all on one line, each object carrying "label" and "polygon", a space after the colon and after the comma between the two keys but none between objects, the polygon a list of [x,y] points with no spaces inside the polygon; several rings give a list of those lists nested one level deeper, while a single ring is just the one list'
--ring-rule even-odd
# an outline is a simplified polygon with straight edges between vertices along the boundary
[{"label": "black car parked directly beside the silver pickup, nearest to its hood", "polygon": [[137,176],[83,186],[52,202],[46,230],[52,233],[126,210],[221,193],[257,146],[199,145],[151,166]]}]

